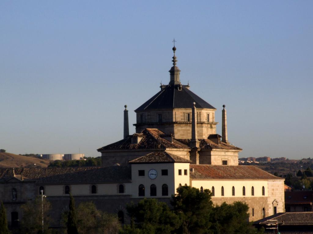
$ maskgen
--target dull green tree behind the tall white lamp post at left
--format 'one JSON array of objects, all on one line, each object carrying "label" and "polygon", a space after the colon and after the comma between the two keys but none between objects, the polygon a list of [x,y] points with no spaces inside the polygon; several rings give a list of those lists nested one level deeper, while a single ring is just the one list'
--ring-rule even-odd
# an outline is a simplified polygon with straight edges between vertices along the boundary
[{"label": "dull green tree behind the tall white lamp post at left", "polygon": [[[42,210],[43,208],[43,210]],[[21,206],[23,212],[23,219],[21,221],[21,233],[23,234],[37,234],[42,232],[42,214],[44,214],[44,233],[49,233],[49,224],[51,218],[49,211],[51,204],[47,199],[37,197],[34,201],[28,201]],[[43,213],[42,213],[43,211]]]}]

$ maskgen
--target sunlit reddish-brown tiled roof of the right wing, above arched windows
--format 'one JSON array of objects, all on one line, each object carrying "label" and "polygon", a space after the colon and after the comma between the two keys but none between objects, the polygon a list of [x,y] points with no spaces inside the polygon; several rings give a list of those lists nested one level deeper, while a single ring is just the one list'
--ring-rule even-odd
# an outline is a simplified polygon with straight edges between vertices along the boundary
[{"label": "sunlit reddish-brown tiled roof of the right wing, above arched windows", "polygon": [[285,180],[284,178],[276,177],[266,171],[263,171],[254,166],[229,166],[229,165],[196,165],[191,164],[190,168],[194,172],[190,172],[192,179],[247,179],[247,180],[263,180],[275,179]]}]

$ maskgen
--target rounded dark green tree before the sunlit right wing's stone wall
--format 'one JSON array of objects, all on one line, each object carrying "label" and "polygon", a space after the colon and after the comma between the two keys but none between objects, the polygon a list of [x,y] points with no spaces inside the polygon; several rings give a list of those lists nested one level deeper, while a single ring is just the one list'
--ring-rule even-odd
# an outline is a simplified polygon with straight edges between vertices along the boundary
[{"label": "rounded dark green tree before the sunlit right wing's stone wall", "polygon": [[226,204],[225,202],[213,208],[211,216],[212,229],[214,234],[252,234],[257,230],[249,220],[249,207],[242,202]]}]

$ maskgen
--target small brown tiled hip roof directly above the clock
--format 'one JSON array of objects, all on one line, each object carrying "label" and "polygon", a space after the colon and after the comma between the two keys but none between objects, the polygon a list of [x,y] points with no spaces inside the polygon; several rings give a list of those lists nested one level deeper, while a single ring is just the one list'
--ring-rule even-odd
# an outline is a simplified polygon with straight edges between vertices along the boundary
[{"label": "small brown tiled hip roof directly above the clock", "polygon": [[190,163],[191,161],[165,151],[155,151],[129,163]]}]

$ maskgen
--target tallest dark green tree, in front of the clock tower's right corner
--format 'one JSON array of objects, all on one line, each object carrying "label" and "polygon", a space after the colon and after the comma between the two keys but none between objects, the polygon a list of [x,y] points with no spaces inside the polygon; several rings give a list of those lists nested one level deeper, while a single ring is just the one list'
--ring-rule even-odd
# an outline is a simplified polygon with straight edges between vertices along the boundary
[{"label": "tallest dark green tree, in front of the clock tower's right corner", "polygon": [[210,232],[210,215],[213,208],[210,190],[205,189],[201,193],[198,188],[181,186],[177,188],[177,194],[172,195],[171,204],[182,221],[180,233]]}]

